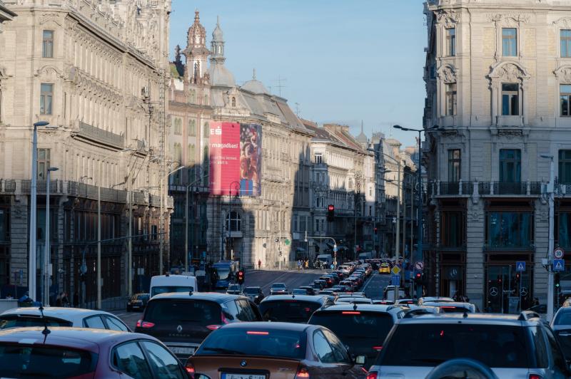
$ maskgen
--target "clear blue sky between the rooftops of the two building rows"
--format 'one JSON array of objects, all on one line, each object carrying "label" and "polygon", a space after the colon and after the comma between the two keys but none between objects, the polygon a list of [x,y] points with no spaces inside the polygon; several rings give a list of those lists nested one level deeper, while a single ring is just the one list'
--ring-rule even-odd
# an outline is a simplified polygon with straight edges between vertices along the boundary
[{"label": "clear blue sky between the rooftops of the two building rows", "polygon": [[194,9],[208,35],[220,16],[226,67],[238,84],[257,77],[309,120],[382,131],[405,145],[422,125],[426,31],[422,0],[173,0],[174,46],[186,47]]}]

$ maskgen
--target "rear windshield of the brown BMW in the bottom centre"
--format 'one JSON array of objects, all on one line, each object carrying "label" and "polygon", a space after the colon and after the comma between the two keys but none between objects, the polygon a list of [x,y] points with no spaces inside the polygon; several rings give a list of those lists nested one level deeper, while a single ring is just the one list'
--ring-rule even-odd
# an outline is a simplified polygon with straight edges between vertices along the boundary
[{"label": "rear windshield of the brown BMW in the bottom centre", "polygon": [[198,348],[195,355],[263,355],[303,359],[305,357],[305,333],[298,331],[264,331],[256,328],[222,328],[212,333]]}]

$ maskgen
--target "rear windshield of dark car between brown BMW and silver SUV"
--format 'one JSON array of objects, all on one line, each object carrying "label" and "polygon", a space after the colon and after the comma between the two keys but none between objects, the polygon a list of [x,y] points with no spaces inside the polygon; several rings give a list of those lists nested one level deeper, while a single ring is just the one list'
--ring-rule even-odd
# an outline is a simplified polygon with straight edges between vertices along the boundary
[{"label": "rear windshield of dark car between brown BMW and silver SUV", "polygon": [[329,328],[348,345],[365,340],[382,345],[390,328],[393,328],[393,317],[380,312],[318,312],[309,323]]}]

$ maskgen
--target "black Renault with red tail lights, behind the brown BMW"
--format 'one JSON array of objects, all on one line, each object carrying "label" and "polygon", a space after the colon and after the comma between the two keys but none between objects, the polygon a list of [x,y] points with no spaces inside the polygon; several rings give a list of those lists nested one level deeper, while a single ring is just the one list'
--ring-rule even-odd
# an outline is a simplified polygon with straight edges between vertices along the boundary
[{"label": "black Renault with red tail lights, behind the brown BMW", "polygon": [[226,323],[263,321],[246,296],[218,292],[153,296],[135,331],[163,341],[181,359],[188,358],[211,331]]}]

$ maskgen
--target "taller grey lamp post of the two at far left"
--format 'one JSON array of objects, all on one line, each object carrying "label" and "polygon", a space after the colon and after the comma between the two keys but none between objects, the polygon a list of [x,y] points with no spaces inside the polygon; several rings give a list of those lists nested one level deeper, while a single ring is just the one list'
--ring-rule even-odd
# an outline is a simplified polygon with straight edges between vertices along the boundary
[{"label": "taller grey lamp post of the two at far left", "polygon": [[34,133],[31,140],[31,185],[30,185],[30,241],[29,241],[29,271],[28,271],[28,296],[36,299],[36,272],[38,256],[36,251],[37,234],[37,199],[38,199],[38,127],[47,126],[47,121],[34,123]]}]

